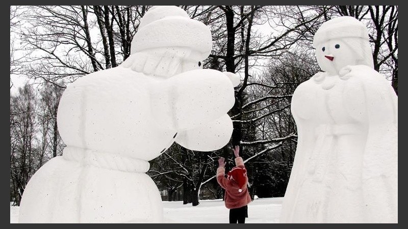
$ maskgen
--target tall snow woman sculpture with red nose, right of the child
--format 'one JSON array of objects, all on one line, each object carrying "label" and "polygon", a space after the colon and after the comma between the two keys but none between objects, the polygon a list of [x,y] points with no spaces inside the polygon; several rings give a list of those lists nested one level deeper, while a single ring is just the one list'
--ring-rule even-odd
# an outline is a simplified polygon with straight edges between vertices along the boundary
[{"label": "tall snow woman sculpture with red nose, right of the child", "polygon": [[313,46],[325,72],[292,98],[298,143],[282,223],[398,222],[398,98],[373,69],[366,26],[321,25]]}]

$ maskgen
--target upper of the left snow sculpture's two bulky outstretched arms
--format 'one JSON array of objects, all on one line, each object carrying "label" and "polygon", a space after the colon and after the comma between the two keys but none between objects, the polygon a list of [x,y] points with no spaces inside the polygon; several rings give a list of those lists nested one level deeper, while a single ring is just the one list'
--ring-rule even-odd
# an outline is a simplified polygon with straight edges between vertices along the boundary
[{"label": "upper of the left snow sculpture's two bulky outstretched arms", "polygon": [[192,129],[213,122],[234,105],[234,88],[222,72],[198,69],[157,82],[151,91],[153,116],[167,129]]}]

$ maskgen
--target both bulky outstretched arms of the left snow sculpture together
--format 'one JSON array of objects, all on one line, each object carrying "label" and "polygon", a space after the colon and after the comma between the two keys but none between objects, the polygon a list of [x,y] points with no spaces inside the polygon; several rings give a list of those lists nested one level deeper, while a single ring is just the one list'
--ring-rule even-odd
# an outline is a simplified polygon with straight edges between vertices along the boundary
[{"label": "both bulky outstretched arms of the left snow sculpture together", "polygon": [[191,150],[211,151],[227,144],[233,126],[226,112],[234,102],[230,78],[211,69],[187,71],[151,87],[157,124],[175,130],[174,140]]}]

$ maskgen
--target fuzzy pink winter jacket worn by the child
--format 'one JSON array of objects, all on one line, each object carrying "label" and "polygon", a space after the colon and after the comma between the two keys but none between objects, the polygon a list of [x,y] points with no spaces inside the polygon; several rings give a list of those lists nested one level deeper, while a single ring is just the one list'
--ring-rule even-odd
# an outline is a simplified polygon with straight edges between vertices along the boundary
[{"label": "fuzzy pink winter jacket worn by the child", "polygon": [[[235,164],[238,167],[245,168],[242,157],[236,157]],[[242,188],[242,192],[238,191],[239,187],[236,181],[225,178],[224,167],[217,168],[217,181],[225,189],[224,201],[227,209],[241,208],[252,201],[246,186],[248,184],[248,177],[246,177],[246,185]]]}]

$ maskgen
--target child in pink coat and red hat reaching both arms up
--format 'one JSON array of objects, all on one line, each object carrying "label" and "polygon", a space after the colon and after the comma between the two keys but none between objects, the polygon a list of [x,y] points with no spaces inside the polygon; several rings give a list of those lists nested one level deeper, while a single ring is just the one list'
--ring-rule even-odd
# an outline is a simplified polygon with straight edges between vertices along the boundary
[{"label": "child in pink coat and red hat reaching both arms up", "polygon": [[239,156],[239,146],[234,148],[236,166],[228,172],[225,178],[225,159],[218,159],[217,182],[225,189],[225,207],[230,209],[230,223],[245,223],[248,216],[248,204],[252,201],[247,184],[248,177],[242,157]]}]

